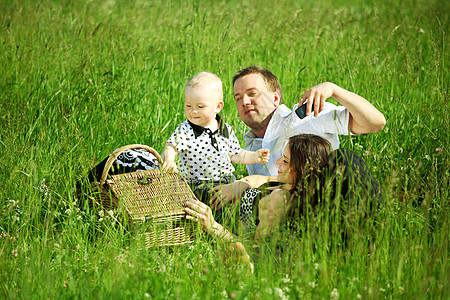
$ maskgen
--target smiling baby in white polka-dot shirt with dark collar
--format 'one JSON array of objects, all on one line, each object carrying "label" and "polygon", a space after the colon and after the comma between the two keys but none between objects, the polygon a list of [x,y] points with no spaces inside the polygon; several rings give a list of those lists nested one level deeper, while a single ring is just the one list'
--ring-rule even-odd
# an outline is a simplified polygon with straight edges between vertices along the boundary
[{"label": "smiling baby in white polka-dot shirt with dark collar", "polygon": [[235,164],[267,163],[269,150],[241,149],[231,126],[218,113],[223,108],[222,82],[213,73],[200,72],[186,84],[184,121],[166,143],[163,171],[177,171],[175,156],[180,154],[180,173],[195,187],[206,182],[231,183]]}]

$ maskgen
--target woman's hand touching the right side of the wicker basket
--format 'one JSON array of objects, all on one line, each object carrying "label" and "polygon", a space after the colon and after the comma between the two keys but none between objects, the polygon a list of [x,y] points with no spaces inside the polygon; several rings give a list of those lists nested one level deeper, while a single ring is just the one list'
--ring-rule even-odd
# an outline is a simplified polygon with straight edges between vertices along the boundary
[{"label": "woman's hand touching the right side of the wicker basket", "polygon": [[217,226],[219,224],[214,221],[211,208],[197,199],[188,200],[185,204],[186,219],[198,222],[210,235],[217,236],[220,226]]}]

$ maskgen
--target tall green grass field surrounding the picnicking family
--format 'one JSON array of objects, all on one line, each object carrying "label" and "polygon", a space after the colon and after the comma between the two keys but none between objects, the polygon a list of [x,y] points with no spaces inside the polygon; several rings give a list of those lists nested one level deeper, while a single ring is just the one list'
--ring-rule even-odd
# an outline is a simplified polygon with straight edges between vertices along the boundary
[{"label": "tall green grass field surrounding the picnicking family", "polygon": [[[450,4],[349,2],[1,1],[1,297],[448,299]],[[331,81],[385,114],[381,132],[341,139],[387,194],[374,233],[336,248],[318,220],[249,275],[206,237],[142,251],[109,215],[77,211],[72,187],[111,151],[162,151],[197,72],[222,78],[243,145],[231,78],[252,64],[289,107]]]}]

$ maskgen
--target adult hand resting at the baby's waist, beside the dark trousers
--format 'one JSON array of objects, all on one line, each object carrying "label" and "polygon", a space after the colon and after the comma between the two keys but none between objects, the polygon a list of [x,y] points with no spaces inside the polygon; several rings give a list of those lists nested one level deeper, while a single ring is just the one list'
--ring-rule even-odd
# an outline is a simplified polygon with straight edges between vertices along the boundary
[{"label": "adult hand resting at the baby's waist, beside the dark trousers", "polygon": [[216,210],[221,209],[223,206],[233,201],[234,205],[239,203],[244,192],[250,188],[250,184],[247,181],[237,180],[231,184],[219,185],[211,190],[211,208]]}]

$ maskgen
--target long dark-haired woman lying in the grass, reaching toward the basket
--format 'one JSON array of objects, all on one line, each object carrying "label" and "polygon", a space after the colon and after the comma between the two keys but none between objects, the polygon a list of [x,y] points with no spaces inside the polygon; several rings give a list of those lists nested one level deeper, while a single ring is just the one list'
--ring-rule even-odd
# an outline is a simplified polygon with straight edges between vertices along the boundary
[{"label": "long dark-haired woman lying in the grass, reaching toward the basket", "polygon": [[[345,149],[331,153],[330,149],[329,142],[319,136],[293,136],[289,139],[283,156],[276,161],[277,177],[248,176],[227,186],[226,195],[215,188],[217,192],[212,197],[212,203],[217,206],[218,199],[222,203],[229,202],[232,198],[240,199],[247,191],[240,203],[241,218],[253,221],[256,226],[254,239],[258,240],[268,236],[274,229],[292,223],[291,221],[298,222],[306,206],[316,206],[324,194],[334,198],[336,195],[332,194],[335,190],[340,191],[348,200],[353,197],[350,191],[355,187],[364,193],[369,191],[368,195],[372,198],[380,197],[378,182],[356,154]],[[338,170],[337,165],[343,168]],[[343,174],[342,180],[336,178],[337,173]],[[356,173],[358,176],[355,176]],[[337,184],[342,185],[342,188],[336,189]],[[254,188],[260,192],[252,190]],[[188,219],[199,222],[211,236],[232,242],[242,261],[253,268],[244,246],[214,221],[209,206],[197,200],[188,201],[185,211]]]}]

